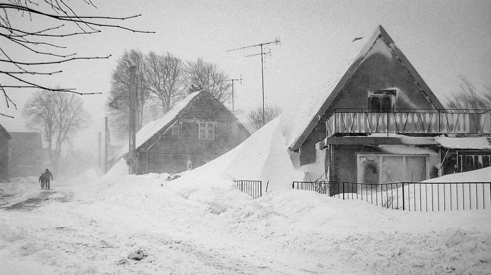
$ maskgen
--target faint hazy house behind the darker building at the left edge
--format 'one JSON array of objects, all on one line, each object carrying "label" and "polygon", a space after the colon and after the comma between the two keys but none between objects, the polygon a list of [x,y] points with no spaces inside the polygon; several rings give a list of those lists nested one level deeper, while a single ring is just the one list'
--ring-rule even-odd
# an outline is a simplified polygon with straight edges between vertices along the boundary
[{"label": "faint hazy house behind the darker building at the left edge", "polygon": [[10,176],[39,176],[46,168],[44,163],[47,155],[43,149],[41,133],[12,132],[10,135]]}]

